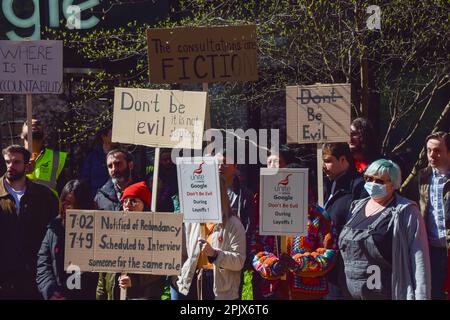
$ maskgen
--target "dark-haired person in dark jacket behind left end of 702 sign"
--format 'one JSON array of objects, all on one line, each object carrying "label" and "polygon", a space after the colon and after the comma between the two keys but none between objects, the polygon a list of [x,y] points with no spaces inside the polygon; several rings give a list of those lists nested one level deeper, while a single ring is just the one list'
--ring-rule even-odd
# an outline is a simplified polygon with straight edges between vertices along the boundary
[{"label": "dark-haired person in dark jacket behind left end of 702 sign", "polygon": [[[48,226],[37,261],[36,282],[45,300],[94,300],[97,274],[64,271],[65,223],[67,209],[94,210],[95,202],[87,182],[69,181],[61,191],[60,213]],[[74,281],[75,280],[75,281]]]}]

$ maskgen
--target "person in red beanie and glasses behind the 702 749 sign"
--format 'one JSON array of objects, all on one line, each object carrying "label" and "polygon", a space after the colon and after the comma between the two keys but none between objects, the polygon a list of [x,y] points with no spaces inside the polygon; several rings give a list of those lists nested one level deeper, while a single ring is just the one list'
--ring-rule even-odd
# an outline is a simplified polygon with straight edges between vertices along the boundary
[{"label": "person in red beanie and glasses behind the 702 749 sign", "polygon": [[[145,182],[128,186],[121,198],[124,211],[150,211],[151,195]],[[97,298],[115,300],[116,285],[127,289],[127,299],[160,300],[164,291],[165,276],[150,274],[122,274],[117,282],[115,273],[101,273],[97,285]]]}]

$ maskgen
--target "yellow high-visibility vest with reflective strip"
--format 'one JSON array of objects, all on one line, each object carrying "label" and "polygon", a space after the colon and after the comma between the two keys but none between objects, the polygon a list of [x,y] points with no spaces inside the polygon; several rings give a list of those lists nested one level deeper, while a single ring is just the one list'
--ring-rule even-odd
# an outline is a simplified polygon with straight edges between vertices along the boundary
[{"label": "yellow high-visibility vest with reflective strip", "polygon": [[45,148],[44,152],[41,152],[35,161],[34,171],[27,174],[27,177],[33,182],[50,188],[58,196],[56,182],[64,168],[66,159],[66,152]]}]

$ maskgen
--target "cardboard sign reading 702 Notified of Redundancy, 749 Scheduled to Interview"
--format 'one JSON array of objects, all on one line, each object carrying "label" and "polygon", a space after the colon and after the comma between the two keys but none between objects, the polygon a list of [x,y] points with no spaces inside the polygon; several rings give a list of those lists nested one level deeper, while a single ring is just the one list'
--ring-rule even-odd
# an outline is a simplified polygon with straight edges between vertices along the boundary
[{"label": "cardboard sign reading 702 Notified of Redundancy, 749 Scheduled to Interview", "polygon": [[180,273],[180,214],[67,210],[65,224],[65,270]]}]

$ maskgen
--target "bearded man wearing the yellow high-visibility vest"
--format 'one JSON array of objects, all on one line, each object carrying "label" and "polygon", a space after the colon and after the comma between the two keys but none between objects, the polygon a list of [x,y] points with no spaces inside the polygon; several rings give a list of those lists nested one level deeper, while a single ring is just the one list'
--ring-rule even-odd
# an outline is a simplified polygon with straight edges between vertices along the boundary
[{"label": "bearded man wearing the yellow high-visibility vest", "polygon": [[[50,149],[44,144],[45,134],[41,121],[32,119],[31,132],[33,137],[31,162],[34,163],[34,168],[30,166],[30,172],[27,172],[27,177],[50,188],[55,196],[58,197],[58,193],[67,182],[63,173],[67,153]],[[25,148],[30,150],[28,147],[27,122],[23,124],[21,137]]]}]

